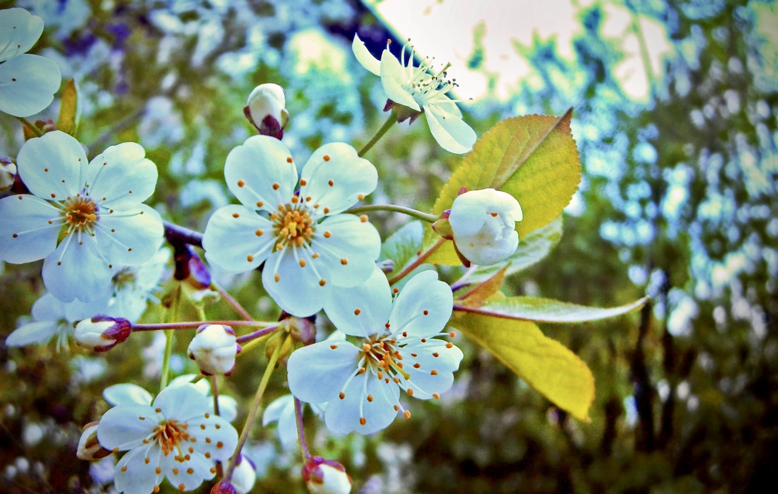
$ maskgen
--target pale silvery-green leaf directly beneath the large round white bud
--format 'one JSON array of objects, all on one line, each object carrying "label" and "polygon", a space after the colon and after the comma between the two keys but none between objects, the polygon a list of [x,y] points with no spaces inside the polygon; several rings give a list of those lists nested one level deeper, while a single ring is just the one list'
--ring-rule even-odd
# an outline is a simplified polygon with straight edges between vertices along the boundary
[{"label": "pale silvery-green leaf directly beneath the large round white bud", "polygon": [[548,225],[536,229],[525,236],[524,240],[519,242],[519,247],[510,258],[496,265],[478,266],[478,268],[475,268],[475,271],[468,276],[468,281],[481,282],[482,280],[489,279],[504,266],[508,267],[508,270],[505,272],[506,276],[529,268],[531,265],[543,260],[551,252],[552,248],[559,243],[561,238],[562,215],[559,215]]}]

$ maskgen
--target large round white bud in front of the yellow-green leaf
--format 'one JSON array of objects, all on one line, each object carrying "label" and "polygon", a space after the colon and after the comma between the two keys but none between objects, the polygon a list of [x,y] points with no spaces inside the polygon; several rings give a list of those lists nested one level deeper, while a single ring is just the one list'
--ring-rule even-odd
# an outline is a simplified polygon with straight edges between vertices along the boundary
[{"label": "large round white bud in front of the yellow-green leaf", "polygon": [[457,251],[470,262],[488,266],[516,251],[516,222],[522,218],[521,206],[513,196],[489,188],[457,196],[448,221]]}]

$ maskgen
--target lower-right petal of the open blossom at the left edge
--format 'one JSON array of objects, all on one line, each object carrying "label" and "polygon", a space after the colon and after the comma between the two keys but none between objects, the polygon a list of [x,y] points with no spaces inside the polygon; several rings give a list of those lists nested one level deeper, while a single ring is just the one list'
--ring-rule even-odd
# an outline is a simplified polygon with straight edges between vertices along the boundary
[{"label": "lower-right petal of the open blossom at the left edge", "polygon": [[145,204],[112,213],[110,209],[100,211],[97,224],[100,252],[114,268],[149,261],[159,250],[165,231],[159,213]]}]

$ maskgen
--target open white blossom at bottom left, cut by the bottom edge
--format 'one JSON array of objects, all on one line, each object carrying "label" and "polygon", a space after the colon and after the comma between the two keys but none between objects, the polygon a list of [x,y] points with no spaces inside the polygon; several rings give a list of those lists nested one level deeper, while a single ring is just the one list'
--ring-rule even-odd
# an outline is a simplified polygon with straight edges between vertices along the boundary
[{"label": "open white blossom at bottom left, cut by the bottom edge", "polygon": [[163,478],[177,489],[196,489],[227,461],[238,435],[230,422],[213,415],[209,398],[194,384],[166,387],[152,405],[119,404],[97,426],[107,450],[128,453],[117,462],[114,485],[124,494],[158,492]]}]

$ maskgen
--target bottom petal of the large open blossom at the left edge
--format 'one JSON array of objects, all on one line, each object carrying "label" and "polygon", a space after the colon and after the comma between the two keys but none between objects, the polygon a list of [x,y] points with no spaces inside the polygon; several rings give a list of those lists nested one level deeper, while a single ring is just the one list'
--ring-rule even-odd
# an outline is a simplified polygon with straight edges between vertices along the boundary
[{"label": "bottom petal of the large open blossom at the left edge", "polygon": [[108,268],[97,251],[94,237],[71,233],[48,254],[40,275],[44,285],[62,302],[79,299],[83,302],[99,300],[110,293],[110,279],[116,272]]}]

